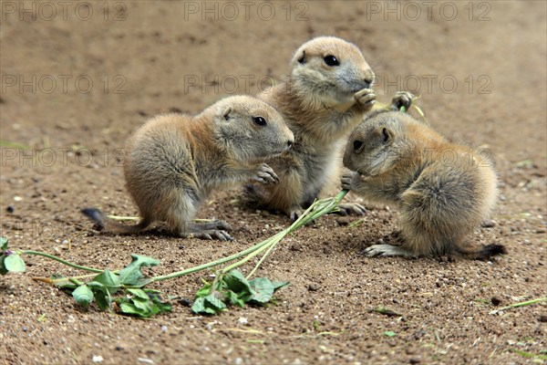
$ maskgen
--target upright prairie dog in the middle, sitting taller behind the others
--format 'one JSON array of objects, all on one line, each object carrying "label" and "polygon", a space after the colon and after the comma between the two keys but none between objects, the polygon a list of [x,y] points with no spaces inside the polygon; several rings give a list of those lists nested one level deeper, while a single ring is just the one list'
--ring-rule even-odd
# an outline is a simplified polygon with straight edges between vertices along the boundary
[{"label": "upright prairie dog in the middle, sitting taller behind the others", "polygon": [[[258,95],[274,106],[294,133],[294,146],[268,160],[279,183],[250,186],[268,208],[296,219],[337,173],[338,151],[346,135],[371,110],[374,73],[355,45],[335,36],[319,36],[299,47],[291,74]],[[358,204],[341,204],[342,213],[363,214]]]}]

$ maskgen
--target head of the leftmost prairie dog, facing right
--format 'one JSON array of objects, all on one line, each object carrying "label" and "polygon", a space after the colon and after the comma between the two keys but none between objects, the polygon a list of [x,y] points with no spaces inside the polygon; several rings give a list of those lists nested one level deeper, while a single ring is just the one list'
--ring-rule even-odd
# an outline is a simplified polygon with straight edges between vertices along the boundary
[{"label": "head of the leftmost prairie dog, facing right", "polygon": [[211,109],[214,139],[236,161],[263,161],[293,145],[293,132],[283,117],[260,99],[234,96],[218,101]]}]

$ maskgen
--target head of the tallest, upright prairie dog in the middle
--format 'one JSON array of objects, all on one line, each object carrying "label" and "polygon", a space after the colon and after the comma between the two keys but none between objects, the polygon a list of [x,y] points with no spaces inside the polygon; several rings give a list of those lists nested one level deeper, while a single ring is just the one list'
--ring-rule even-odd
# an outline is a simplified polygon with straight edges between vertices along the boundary
[{"label": "head of the tallest, upright prairie dog in the middle", "polygon": [[335,36],[309,40],[291,61],[291,86],[327,105],[353,104],[354,94],[373,81],[374,72],[359,48]]}]

